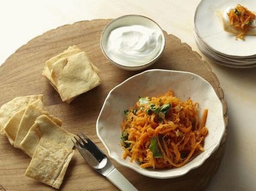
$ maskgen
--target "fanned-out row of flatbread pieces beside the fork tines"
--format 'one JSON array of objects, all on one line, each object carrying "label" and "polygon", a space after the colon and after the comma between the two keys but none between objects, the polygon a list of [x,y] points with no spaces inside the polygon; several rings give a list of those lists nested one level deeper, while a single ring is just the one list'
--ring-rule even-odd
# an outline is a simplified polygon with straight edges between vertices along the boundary
[{"label": "fanned-out row of flatbread pieces beside the fork tines", "polygon": [[16,97],[0,108],[0,132],[32,160],[25,174],[59,189],[74,155],[71,133],[43,110],[42,95]]}]

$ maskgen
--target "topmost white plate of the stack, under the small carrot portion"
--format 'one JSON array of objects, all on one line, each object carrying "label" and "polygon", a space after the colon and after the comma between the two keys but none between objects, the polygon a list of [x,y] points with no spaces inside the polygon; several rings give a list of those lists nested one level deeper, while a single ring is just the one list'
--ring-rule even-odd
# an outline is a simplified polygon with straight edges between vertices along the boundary
[{"label": "topmost white plate of the stack, under the small carrot portion", "polygon": [[225,32],[217,11],[241,4],[251,11],[256,11],[256,1],[202,0],[194,15],[194,27],[197,35],[212,50],[234,57],[256,56],[256,36],[245,36],[245,41]]}]

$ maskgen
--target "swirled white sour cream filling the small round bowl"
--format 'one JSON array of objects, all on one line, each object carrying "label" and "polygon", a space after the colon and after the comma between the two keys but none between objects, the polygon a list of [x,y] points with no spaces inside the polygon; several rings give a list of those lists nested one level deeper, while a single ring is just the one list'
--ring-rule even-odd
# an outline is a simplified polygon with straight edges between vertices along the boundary
[{"label": "swirled white sour cream filling the small round bowl", "polygon": [[108,56],[116,63],[138,66],[159,54],[161,33],[141,25],[123,26],[112,30],[107,41]]}]

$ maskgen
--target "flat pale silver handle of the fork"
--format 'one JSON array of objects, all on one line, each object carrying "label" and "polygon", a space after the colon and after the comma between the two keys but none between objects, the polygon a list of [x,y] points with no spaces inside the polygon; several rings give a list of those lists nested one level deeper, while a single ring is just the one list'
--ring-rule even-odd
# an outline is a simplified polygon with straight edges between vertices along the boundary
[{"label": "flat pale silver handle of the fork", "polygon": [[106,178],[121,191],[138,191],[116,168],[109,172]]}]

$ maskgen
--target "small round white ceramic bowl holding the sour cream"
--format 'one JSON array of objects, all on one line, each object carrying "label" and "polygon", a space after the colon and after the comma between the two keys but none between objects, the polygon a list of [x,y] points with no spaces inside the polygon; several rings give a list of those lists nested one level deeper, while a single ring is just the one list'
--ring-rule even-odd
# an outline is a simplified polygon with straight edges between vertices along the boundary
[{"label": "small round white ceramic bowl holding the sour cream", "polygon": [[[108,48],[107,48],[108,36],[112,30],[118,27],[132,26],[132,25],[141,25],[141,26],[148,27],[150,29],[154,29],[157,32],[159,32],[161,35],[161,46],[160,46],[159,53],[156,55],[156,57],[154,57],[152,60],[147,61],[145,63],[136,64],[136,66],[130,66],[130,64],[122,63],[121,61],[119,62],[117,62],[116,60],[114,61],[109,56]],[[161,30],[161,27],[159,26],[159,24],[149,19],[148,17],[139,16],[139,15],[126,15],[126,16],[118,17],[117,19],[112,20],[105,27],[100,38],[100,47],[102,49],[103,54],[106,56],[106,58],[108,58],[108,60],[112,64],[124,70],[141,70],[141,69],[145,69],[148,66],[151,66],[155,61],[159,59],[159,57],[163,53],[164,46],[165,46],[165,38],[164,38],[163,30]]]}]

